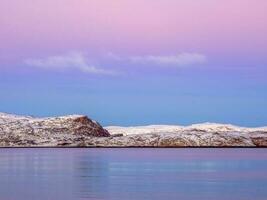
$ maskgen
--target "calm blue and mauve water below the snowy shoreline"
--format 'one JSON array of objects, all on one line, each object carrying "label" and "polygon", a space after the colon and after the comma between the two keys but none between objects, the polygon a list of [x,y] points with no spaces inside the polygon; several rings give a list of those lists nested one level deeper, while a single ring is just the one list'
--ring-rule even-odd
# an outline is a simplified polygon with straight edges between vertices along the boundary
[{"label": "calm blue and mauve water below the snowy shoreline", "polygon": [[266,200],[267,149],[0,149],[0,200]]}]

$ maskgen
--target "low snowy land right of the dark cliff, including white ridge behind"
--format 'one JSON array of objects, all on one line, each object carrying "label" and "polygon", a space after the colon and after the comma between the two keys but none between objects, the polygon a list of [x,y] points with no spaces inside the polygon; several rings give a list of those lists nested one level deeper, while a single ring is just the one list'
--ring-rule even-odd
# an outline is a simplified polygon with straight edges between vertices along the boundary
[{"label": "low snowy land right of the dark cliff, including white ridge behind", "polygon": [[106,127],[114,137],[98,142],[109,146],[151,147],[267,147],[267,128],[244,128],[228,124],[192,126]]}]

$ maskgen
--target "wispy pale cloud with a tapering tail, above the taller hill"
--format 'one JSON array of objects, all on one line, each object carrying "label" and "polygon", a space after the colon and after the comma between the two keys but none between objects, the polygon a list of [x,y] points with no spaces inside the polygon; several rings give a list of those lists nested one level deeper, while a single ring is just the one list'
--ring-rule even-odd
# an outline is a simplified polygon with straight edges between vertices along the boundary
[{"label": "wispy pale cloud with a tapering tail, above the taller hill", "polygon": [[116,72],[96,67],[90,64],[81,52],[72,52],[66,55],[50,56],[43,59],[27,59],[25,64],[32,67],[49,70],[76,69],[88,74],[115,75]]}]

